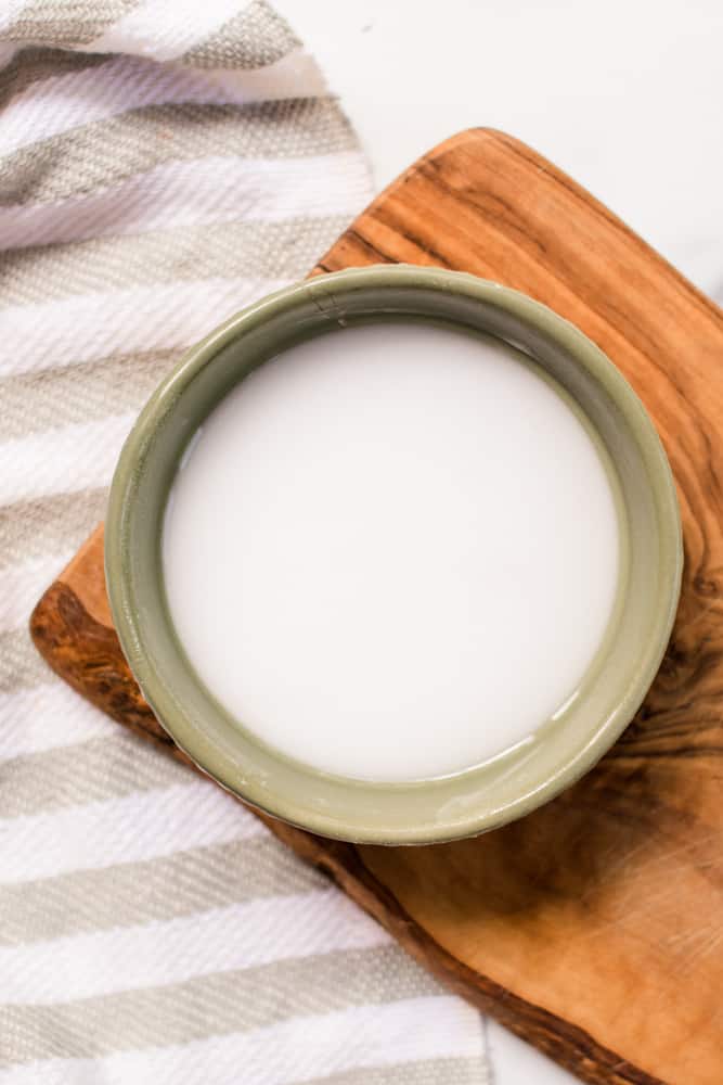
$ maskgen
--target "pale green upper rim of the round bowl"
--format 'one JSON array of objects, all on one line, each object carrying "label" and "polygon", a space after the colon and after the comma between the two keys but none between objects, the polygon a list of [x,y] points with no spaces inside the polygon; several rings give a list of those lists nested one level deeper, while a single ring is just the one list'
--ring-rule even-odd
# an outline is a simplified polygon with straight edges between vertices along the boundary
[{"label": "pale green upper rim of the round bowl", "polygon": [[[273,789],[268,786],[259,787],[248,779],[240,782],[238,770],[236,768],[234,771],[232,758],[218,749],[216,750],[218,756],[214,758],[210,743],[205,740],[203,729],[197,727],[183,712],[182,706],[168,695],[169,691],[163,677],[149,665],[145,630],[135,611],[128,578],[127,511],[138,489],[139,463],[145,456],[150,435],[167,417],[168,411],[172,410],[175,403],[198,371],[250,327],[271,321],[280,314],[309,299],[335,320],[335,307],[345,292],[370,286],[383,289],[404,286],[461,293],[512,314],[561,347],[578,365],[588,370],[618,407],[624,409],[628,424],[640,437],[641,458],[645,462],[651,489],[656,492],[657,505],[663,510],[663,522],[660,523],[659,534],[667,531],[672,533],[674,538],[670,575],[666,577],[663,590],[656,601],[655,636],[642,646],[634,680],[624,688],[615,712],[599,723],[590,741],[577,753],[570,755],[568,752],[561,757],[556,770],[531,792],[511,800],[502,807],[487,807],[475,815],[466,814],[462,817],[459,815],[437,817],[434,824],[409,825],[403,830],[399,827],[389,829],[377,824],[360,825],[358,819],[349,818],[345,813],[312,812],[294,799],[274,794]],[[454,320],[453,317],[450,319]],[[251,806],[301,829],[356,843],[429,844],[477,835],[530,813],[589,771],[628,726],[660,666],[675,618],[682,570],[680,507],[668,458],[643,404],[610,359],[577,327],[519,291],[466,272],[414,265],[374,265],[331,272],[294,283],[245,307],[185,352],[153,393],[126,439],[113,477],[106,515],[105,577],[114,625],[124,654],[143,695],[173,741],[202,771]],[[194,678],[198,681],[195,675]],[[207,690],[205,692],[208,693]],[[212,693],[210,697],[212,698]],[[283,754],[279,756],[285,757]],[[300,763],[296,764],[299,768],[306,768]],[[309,773],[314,777],[324,775],[311,767]],[[363,786],[363,781],[358,780],[350,780],[349,783],[354,787]],[[418,786],[423,787],[424,781]],[[374,784],[370,781],[369,787]],[[401,788],[403,784],[391,787]]]}]

